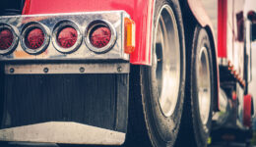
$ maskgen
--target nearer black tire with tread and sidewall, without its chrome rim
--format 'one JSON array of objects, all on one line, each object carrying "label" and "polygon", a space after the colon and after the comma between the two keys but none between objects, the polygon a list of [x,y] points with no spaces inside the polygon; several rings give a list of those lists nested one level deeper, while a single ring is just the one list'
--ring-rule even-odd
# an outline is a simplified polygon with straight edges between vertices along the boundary
[{"label": "nearer black tire with tread and sidewall, without its chrome rim", "polygon": [[[171,147],[178,134],[185,90],[185,40],[181,10],[177,0],[156,1],[153,36],[157,34],[155,28],[157,27],[160,10],[166,5],[173,12],[178,32],[178,44],[180,46],[180,70],[178,71],[180,75],[177,78],[179,86],[176,92],[178,93],[176,107],[173,107],[175,108],[173,113],[167,117],[161,111],[155,58],[152,58],[153,65],[151,67],[132,67],[130,76],[129,123],[125,146]],[[155,38],[153,40],[153,57],[157,54],[154,42]]]}]

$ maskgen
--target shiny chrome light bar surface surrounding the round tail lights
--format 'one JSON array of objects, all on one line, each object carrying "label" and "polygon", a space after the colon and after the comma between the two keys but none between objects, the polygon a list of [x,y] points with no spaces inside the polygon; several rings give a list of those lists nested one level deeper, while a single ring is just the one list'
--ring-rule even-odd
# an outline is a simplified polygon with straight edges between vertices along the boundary
[{"label": "shiny chrome light bar surface surrounding the round tail lights", "polygon": [[0,17],[0,24],[13,25],[18,30],[18,34],[22,32],[25,25],[36,22],[44,25],[49,29],[50,40],[53,40],[54,26],[62,21],[70,21],[79,27],[82,38],[86,37],[86,28],[90,23],[96,20],[104,20],[112,25],[112,29],[116,32],[116,41],[112,49],[104,54],[97,54],[89,49],[83,41],[77,51],[70,54],[63,54],[56,50],[53,43],[50,42],[47,49],[38,55],[29,55],[22,46],[21,41],[18,43],[16,50],[10,55],[0,55],[0,61],[10,60],[104,60],[104,59],[120,59],[129,60],[129,54],[124,52],[124,17],[129,15],[124,11],[105,11],[105,12],[89,12],[89,13],[72,13],[72,14],[52,14],[52,15],[30,15],[30,16],[7,16]]}]

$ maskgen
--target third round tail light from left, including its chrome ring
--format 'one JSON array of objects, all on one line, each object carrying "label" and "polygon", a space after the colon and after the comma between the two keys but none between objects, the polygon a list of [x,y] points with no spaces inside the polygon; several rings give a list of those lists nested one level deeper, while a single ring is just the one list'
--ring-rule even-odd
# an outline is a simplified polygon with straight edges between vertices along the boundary
[{"label": "third round tail light from left, including its chrome ring", "polygon": [[70,21],[62,21],[54,26],[53,45],[61,53],[75,52],[82,43],[82,34],[78,25]]}]

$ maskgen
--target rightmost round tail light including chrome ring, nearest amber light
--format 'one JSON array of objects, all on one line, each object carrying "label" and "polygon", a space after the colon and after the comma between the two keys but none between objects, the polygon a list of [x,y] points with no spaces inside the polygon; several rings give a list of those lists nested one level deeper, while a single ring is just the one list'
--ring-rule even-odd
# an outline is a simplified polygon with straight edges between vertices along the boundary
[{"label": "rightmost round tail light including chrome ring, nearest amber light", "polygon": [[115,44],[116,31],[105,21],[92,22],[86,31],[86,44],[91,51],[105,53]]}]

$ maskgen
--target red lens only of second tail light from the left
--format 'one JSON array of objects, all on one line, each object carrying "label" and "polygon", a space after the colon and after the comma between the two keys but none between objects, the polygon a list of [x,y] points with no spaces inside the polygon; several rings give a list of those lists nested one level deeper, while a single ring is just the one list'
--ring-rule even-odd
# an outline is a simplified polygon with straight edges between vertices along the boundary
[{"label": "red lens only of second tail light from the left", "polygon": [[32,28],[25,37],[25,43],[30,49],[38,49],[44,42],[44,33],[41,28]]}]

